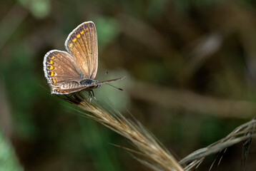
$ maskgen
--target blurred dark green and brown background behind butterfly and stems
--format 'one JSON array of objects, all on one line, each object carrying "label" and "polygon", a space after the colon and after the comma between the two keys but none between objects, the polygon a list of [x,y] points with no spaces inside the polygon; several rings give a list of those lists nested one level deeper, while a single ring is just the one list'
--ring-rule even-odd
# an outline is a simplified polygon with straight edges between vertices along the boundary
[{"label": "blurred dark green and brown background behind butterfly and stems", "polygon": [[[255,1],[0,1],[0,170],[148,170],[132,147],[51,95],[44,54],[94,21],[97,99],[139,120],[177,160],[256,114]],[[74,110],[75,109],[75,110]],[[242,143],[217,170],[240,168]],[[215,155],[198,170],[208,170]],[[256,168],[252,140],[247,170]]]}]

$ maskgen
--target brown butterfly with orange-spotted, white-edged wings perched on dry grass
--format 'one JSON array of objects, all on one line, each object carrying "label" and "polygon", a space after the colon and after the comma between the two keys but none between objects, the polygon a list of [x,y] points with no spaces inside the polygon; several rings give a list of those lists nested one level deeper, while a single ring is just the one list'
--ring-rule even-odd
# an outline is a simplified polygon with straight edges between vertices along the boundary
[{"label": "brown butterfly with orange-spotted, white-edged wings perched on dry grass", "polygon": [[52,50],[44,56],[44,76],[52,94],[87,90],[91,95],[90,92],[93,93],[94,88],[122,79],[101,82],[94,80],[98,68],[98,43],[92,21],[74,28],[65,41],[65,48],[67,51]]}]

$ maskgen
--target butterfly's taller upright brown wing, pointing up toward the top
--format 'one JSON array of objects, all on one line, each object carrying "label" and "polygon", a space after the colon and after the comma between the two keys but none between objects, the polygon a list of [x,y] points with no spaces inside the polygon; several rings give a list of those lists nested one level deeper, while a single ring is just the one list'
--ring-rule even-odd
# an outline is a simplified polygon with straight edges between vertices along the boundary
[{"label": "butterfly's taller upright brown wing, pointing up toward the top", "polygon": [[67,51],[74,57],[83,78],[94,79],[98,68],[97,32],[92,21],[77,26],[65,42]]}]

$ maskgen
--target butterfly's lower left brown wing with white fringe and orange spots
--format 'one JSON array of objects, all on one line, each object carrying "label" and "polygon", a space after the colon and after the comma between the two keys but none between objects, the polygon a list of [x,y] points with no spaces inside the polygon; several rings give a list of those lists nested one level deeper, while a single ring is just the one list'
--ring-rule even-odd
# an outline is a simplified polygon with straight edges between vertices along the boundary
[{"label": "butterfly's lower left brown wing with white fringe and orange spots", "polygon": [[82,71],[69,53],[52,50],[44,56],[44,76],[53,90],[63,83],[79,82]]}]

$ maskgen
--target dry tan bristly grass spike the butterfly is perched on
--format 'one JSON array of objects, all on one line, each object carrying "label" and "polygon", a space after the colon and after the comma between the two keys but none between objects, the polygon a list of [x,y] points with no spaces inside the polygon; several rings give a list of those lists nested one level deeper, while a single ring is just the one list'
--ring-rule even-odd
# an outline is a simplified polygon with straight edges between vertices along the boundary
[{"label": "dry tan bristly grass spike the butterfly is perched on", "polygon": [[130,149],[129,151],[133,152],[139,162],[152,170],[183,170],[172,154],[164,149],[140,123],[127,120],[117,110],[113,113],[95,103],[89,103],[82,95],[70,95],[64,99],[86,111],[87,113],[83,115],[87,118],[96,120],[130,140],[138,151]]}]

